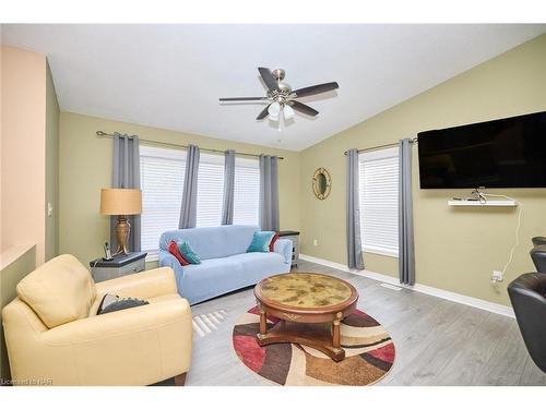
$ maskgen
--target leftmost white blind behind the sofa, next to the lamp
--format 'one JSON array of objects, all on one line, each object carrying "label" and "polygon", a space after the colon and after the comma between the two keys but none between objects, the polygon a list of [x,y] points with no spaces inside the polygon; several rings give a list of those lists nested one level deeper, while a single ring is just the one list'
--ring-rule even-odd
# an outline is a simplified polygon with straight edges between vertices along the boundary
[{"label": "leftmost white blind behind the sofa, next to the lamp", "polygon": [[141,245],[152,256],[157,253],[161,234],[178,229],[185,171],[185,151],[141,145]]}]

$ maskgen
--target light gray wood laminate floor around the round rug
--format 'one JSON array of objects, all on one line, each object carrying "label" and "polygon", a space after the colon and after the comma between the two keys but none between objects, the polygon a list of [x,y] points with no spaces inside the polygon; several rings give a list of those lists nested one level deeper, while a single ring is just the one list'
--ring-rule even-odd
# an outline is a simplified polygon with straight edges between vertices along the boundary
[{"label": "light gray wood laminate floor around the round rug", "polygon": [[[358,308],[391,334],[396,360],[377,385],[546,385],[546,374],[533,363],[515,320],[402,289],[379,281],[300,262],[299,270],[343,278],[360,294]],[[245,289],[192,306],[193,315],[224,310],[217,329],[193,337],[193,360],[187,385],[272,384],[248,370],[232,346],[238,317],[254,305]]]}]

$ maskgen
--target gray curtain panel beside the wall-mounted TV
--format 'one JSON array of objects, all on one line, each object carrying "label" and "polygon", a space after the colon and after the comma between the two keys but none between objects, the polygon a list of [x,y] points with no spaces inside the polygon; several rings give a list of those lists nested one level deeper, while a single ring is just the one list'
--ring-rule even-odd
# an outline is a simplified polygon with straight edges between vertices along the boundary
[{"label": "gray curtain panel beside the wall-mounted TV", "polygon": [[415,282],[412,205],[412,141],[400,141],[399,164],[399,275],[400,282]]}]

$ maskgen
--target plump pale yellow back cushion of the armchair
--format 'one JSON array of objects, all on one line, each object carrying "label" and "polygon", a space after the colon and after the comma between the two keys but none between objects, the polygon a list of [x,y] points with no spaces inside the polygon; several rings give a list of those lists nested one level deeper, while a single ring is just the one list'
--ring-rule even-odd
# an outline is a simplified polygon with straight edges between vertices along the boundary
[{"label": "plump pale yellow back cushion of the armchair", "polygon": [[36,268],[17,284],[16,291],[48,328],[86,317],[96,296],[90,272],[70,254]]}]

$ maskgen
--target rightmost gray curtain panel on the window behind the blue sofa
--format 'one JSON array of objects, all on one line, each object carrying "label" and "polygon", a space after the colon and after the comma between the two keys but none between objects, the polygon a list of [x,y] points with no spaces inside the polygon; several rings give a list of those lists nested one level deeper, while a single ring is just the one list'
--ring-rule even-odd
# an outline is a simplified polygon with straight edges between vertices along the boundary
[{"label": "rightmost gray curtain panel on the window behind the blue sofa", "polygon": [[278,230],[277,157],[260,155],[260,228]]}]

